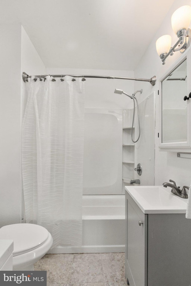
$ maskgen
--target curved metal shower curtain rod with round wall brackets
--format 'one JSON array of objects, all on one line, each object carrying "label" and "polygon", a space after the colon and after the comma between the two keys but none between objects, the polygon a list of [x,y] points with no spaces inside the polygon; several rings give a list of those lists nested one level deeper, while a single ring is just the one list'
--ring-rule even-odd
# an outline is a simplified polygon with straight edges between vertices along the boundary
[{"label": "curved metal shower curtain rod with round wall brackets", "polygon": [[[51,77],[65,77],[66,75],[70,77],[92,77],[92,78],[108,78],[108,79],[120,79],[120,80],[138,80],[138,81],[148,81],[152,86],[156,83],[156,76],[151,77],[150,79],[146,78],[134,78],[134,77],[110,77],[103,75],[73,75],[73,74],[49,74]],[[48,75],[36,75],[36,77],[47,77]],[[22,79],[25,82],[27,78],[31,77],[31,75],[26,74],[26,72],[22,73]]]}]

